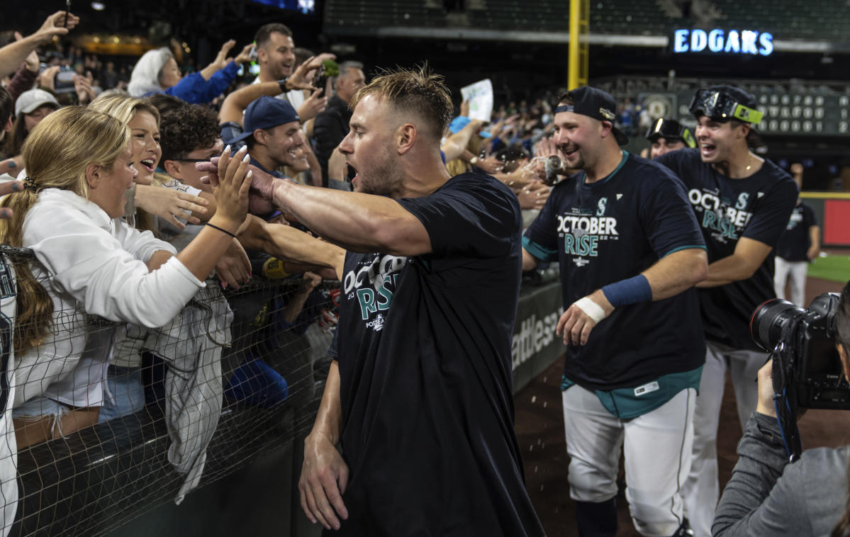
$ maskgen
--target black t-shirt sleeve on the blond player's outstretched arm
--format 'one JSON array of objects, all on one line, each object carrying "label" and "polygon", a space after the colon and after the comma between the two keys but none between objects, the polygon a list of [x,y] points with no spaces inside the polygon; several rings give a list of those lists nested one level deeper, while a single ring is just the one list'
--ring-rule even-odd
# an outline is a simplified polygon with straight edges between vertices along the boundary
[{"label": "black t-shirt sleeve on the blond player's outstretched arm", "polygon": [[517,196],[496,179],[454,178],[432,195],[399,203],[425,226],[435,257],[505,256],[522,226]]}]

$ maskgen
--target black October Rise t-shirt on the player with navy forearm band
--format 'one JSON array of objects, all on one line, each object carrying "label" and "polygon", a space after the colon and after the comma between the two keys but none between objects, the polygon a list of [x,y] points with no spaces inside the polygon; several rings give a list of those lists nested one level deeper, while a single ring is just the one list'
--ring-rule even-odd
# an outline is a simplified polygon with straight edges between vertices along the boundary
[{"label": "black October Rise t-shirt on the player with navy forearm band", "polygon": [[[558,259],[564,308],[604,285],[649,269],[661,257],[705,248],[682,184],[639,156],[596,183],[584,172],[562,181],[525,231],[524,248]],[[706,359],[693,289],[675,297],[615,308],[587,344],[567,347],[564,376],[590,389],[635,387]]]}]

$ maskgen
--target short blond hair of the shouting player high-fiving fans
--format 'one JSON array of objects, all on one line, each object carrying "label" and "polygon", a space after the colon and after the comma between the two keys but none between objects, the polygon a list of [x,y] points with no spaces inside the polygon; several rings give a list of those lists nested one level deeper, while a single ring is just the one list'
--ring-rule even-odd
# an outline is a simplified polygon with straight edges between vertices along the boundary
[{"label": "short blond hair of the shouting player high-fiving fans", "polygon": [[443,80],[443,76],[433,74],[427,65],[417,70],[383,71],[354,94],[351,110],[360,99],[375,95],[402,114],[413,112],[424,122],[427,133],[439,143],[454,114],[449,89]]}]

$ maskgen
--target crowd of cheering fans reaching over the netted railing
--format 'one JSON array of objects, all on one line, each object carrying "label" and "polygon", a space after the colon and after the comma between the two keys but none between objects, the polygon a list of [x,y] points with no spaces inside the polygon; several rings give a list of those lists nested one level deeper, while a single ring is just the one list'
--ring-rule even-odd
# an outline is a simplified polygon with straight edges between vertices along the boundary
[{"label": "crowd of cheering fans reaching over the netted railing", "polygon": [[[170,461],[186,475],[182,494],[200,479],[198,454],[223,393],[260,405],[286,400],[292,379],[237,342],[257,340],[269,301],[279,301],[275,330],[332,326],[318,293],[322,280],[342,279],[345,252],[252,189],[252,175],[356,189],[357,172],[338,148],[350,132],[348,103],[368,82],[360,61],[297,48],[286,25],[271,23],[252,45],[225,42],[184,76],[167,47],[116,65],[64,45],[77,24],[59,12],[30,36],[0,37],[0,242],[34,256],[0,263],[3,282],[17,282],[0,297],[3,319],[14,319],[12,341],[3,342],[8,452],[0,461],[13,461],[0,464],[6,531],[17,450],[144,408],[146,355],[168,366],[156,397],[180,446]],[[240,73],[250,64],[258,76],[249,83]],[[553,178],[569,172],[551,138],[555,100],[499,105],[490,122],[470,119],[460,103],[440,146],[452,176],[485,172],[513,190],[525,226]],[[657,119],[626,99],[615,125],[636,136]],[[676,128],[656,125],[649,138],[677,133],[666,142],[683,147],[691,134]],[[211,274],[219,285],[204,285]],[[229,294],[256,279],[289,279],[294,291]],[[199,299],[206,309],[187,308]],[[239,350],[223,372],[230,343]],[[206,358],[186,362],[197,355]],[[319,362],[314,370],[326,370]]]}]

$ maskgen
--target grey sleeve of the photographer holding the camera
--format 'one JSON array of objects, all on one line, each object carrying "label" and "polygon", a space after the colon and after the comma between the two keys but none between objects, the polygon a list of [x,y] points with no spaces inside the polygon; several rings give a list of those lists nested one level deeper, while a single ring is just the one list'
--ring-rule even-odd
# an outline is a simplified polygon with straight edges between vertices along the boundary
[{"label": "grey sleeve of the photographer holding the camera", "polygon": [[[808,465],[807,454],[787,465],[775,418],[753,413],[738,444],[738,455],[732,478],[717,506],[711,534],[812,535],[806,482],[814,477],[813,471],[820,472]],[[846,472],[842,472],[845,481]]]}]

